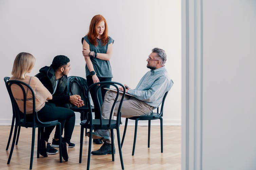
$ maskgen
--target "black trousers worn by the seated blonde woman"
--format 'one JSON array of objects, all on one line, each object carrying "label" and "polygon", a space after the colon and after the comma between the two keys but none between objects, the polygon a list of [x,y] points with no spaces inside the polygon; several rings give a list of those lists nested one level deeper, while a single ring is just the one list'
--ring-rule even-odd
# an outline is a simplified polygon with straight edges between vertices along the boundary
[{"label": "black trousers worn by the seated blonde woman", "polygon": [[[70,139],[75,126],[75,113],[74,111],[65,107],[53,106],[53,103],[46,102],[44,107],[37,112],[39,120],[43,122],[58,120],[61,123],[61,135],[64,130],[63,141],[70,143]],[[55,126],[45,127],[44,133],[42,134],[42,139],[48,141],[51,132]],[[57,138],[57,137],[56,137]],[[59,137],[57,138],[59,139]]]}]

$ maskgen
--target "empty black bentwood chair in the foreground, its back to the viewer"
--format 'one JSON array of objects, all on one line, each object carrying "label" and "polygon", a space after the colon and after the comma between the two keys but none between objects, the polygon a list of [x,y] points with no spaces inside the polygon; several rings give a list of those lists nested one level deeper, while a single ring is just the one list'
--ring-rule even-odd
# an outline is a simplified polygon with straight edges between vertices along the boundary
[{"label": "empty black bentwood chair in the foreground, its back to the viewer", "polygon": [[[89,170],[89,168],[90,168],[91,146],[92,146],[92,130],[93,129],[110,129],[111,130],[112,161],[114,161],[114,130],[113,129],[116,129],[120,161],[121,161],[122,169],[124,169],[122,150],[121,150],[121,140],[120,140],[119,126],[120,126],[120,117],[121,117],[121,107],[122,107],[122,103],[123,103],[123,99],[124,99],[125,95],[122,95],[122,98],[121,98],[121,101],[120,101],[120,104],[119,104],[119,107],[118,107],[117,115],[116,115],[116,117],[117,117],[116,120],[112,119],[114,107],[115,107],[117,98],[118,98],[118,96],[120,94],[119,93],[119,88],[117,87],[117,85],[119,85],[119,86],[123,87],[123,89],[125,89],[124,85],[119,83],[119,82],[114,82],[114,81],[97,82],[97,83],[92,84],[88,88],[88,90],[87,90],[87,97],[89,98],[89,91],[90,91],[91,88],[97,87],[96,91],[98,92],[98,90],[101,87],[106,86],[106,85],[113,86],[117,90],[116,98],[115,98],[114,103],[112,105],[109,119],[102,119],[102,117],[100,117],[100,119],[92,119],[91,103],[90,103],[90,100],[87,100],[88,101],[89,110],[90,110],[90,112],[88,114],[88,119],[87,120],[83,120],[80,123],[80,125],[81,125],[81,134],[80,134],[79,163],[82,162],[84,128],[90,129],[89,146],[88,146],[88,158],[87,158],[87,170]],[[98,96],[97,96],[97,101],[99,103]],[[100,114],[102,114],[102,113],[100,113]]]}]

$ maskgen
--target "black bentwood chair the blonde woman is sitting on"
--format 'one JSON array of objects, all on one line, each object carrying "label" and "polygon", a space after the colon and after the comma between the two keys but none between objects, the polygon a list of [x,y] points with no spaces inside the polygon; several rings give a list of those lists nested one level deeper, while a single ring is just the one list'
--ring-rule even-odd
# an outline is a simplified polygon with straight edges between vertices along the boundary
[{"label": "black bentwood chair the blonde woman is sitting on", "polygon": [[[15,140],[17,136],[17,129],[19,126],[22,127],[32,127],[32,144],[31,144],[31,156],[30,156],[30,168],[32,169],[32,164],[33,164],[33,154],[34,154],[34,145],[35,145],[35,131],[36,128],[38,127],[38,136],[37,136],[37,158],[39,158],[39,152],[40,152],[40,136],[41,136],[41,128],[43,127],[48,127],[48,126],[54,126],[54,125],[59,125],[59,132],[61,136],[61,124],[58,122],[58,120],[51,121],[51,122],[41,122],[38,119],[37,112],[35,110],[35,94],[33,89],[26,83],[18,80],[8,80],[7,82],[7,90],[10,95],[11,101],[12,101],[12,107],[13,107],[13,113],[15,114],[15,129],[14,129],[14,136],[13,136],[13,143],[11,147],[11,151],[9,154],[9,158],[7,161],[7,164],[10,164],[12,154],[13,154],[13,148],[15,145]],[[11,91],[12,86],[19,86],[20,90],[23,92],[23,96],[20,96],[20,98],[23,100],[23,108],[24,108],[24,113],[22,113],[17,105],[17,102],[13,96],[13,93]],[[32,93],[32,98],[26,98],[26,94],[28,92]],[[32,122],[28,121],[26,119],[26,101],[32,100],[33,101],[33,115],[32,115]],[[56,126],[57,127],[57,126]],[[61,138],[59,139],[60,146],[61,146]],[[62,162],[62,157],[61,157],[61,147],[59,148],[59,162]]]}]

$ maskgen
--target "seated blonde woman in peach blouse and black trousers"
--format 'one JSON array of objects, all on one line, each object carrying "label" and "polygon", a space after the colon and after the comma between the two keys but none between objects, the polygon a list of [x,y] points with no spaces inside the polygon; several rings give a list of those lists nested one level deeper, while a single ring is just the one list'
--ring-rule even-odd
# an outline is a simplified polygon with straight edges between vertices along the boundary
[{"label": "seated blonde woman in peach blouse and black trousers", "polygon": [[[43,86],[43,84],[37,77],[28,75],[28,73],[30,73],[32,68],[34,67],[34,64],[35,57],[32,54],[26,52],[19,53],[14,60],[12,70],[13,76],[10,78],[10,80],[22,81],[26,84],[29,84],[29,86],[33,89],[35,93],[36,112],[38,114],[39,120],[43,122],[58,120],[61,123],[61,132],[63,132],[63,128],[65,128],[64,138],[61,144],[62,157],[65,161],[68,161],[68,146],[75,125],[75,113],[68,108],[54,107],[48,104],[47,100],[52,99],[52,94]],[[23,112],[23,101],[19,100],[20,98],[23,98],[22,90],[18,86],[12,86],[11,90],[20,111]],[[31,97],[32,93],[28,92],[27,99]],[[27,100],[26,114],[28,120],[32,120],[32,106],[32,100]],[[54,126],[45,127],[44,132],[41,135],[40,154],[44,157],[48,156],[46,153],[46,146],[53,128]]]}]

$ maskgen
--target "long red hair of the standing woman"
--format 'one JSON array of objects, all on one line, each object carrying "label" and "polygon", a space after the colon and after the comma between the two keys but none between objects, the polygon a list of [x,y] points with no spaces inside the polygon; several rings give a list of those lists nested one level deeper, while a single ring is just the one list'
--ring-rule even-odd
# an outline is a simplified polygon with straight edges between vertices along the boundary
[{"label": "long red hair of the standing woman", "polygon": [[105,18],[102,15],[95,15],[91,20],[89,32],[87,33],[87,37],[88,37],[89,41],[95,46],[98,45],[98,42],[96,41],[97,37],[98,37],[97,27],[98,27],[99,23],[102,21],[104,21],[104,23],[105,23],[105,30],[102,34],[101,41],[103,42],[103,45],[106,45],[109,40],[108,25],[107,25]]}]

